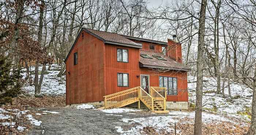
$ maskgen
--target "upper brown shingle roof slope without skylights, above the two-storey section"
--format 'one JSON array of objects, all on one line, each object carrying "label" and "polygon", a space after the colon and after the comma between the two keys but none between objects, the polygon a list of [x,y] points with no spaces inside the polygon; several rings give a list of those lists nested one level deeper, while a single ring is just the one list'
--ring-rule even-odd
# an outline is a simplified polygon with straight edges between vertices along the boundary
[{"label": "upper brown shingle roof slope without skylights, above the two-storey section", "polygon": [[98,36],[99,38],[102,38],[105,41],[109,41],[109,43],[114,42],[114,43],[121,43],[121,44],[127,44],[127,45],[133,45],[133,46],[141,47],[140,44],[132,42],[131,40],[125,38],[124,36],[121,36],[121,35],[116,34],[116,33],[92,30],[92,29],[88,29],[88,28],[85,28],[85,30],[88,30],[92,34]]}]

